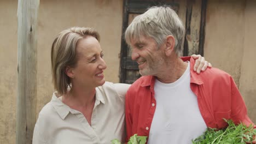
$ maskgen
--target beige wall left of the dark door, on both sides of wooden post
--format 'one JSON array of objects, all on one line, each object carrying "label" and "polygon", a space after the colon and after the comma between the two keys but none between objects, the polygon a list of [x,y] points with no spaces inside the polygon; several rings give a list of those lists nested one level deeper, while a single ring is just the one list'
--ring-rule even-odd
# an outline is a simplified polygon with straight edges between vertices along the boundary
[{"label": "beige wall left of the dark door, on both sides of wooden post", "polygon": [[[17,0],[0,1],[0,143],[15,143],[17,95]],[[37,113],[53,94],[50,49],[63,29],[94,27],[108,65],[107,81],[118,82],[123,1],[41,0],[38,25]],[[37,114],[38,115],[38,114]]]}]

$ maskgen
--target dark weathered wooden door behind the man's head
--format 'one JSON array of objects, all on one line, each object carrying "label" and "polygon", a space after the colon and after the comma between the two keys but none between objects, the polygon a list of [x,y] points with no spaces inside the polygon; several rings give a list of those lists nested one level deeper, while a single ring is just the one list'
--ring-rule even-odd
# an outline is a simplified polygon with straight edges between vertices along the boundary
[{"label": "dark weathered wooden door behind the man's head", "polygon": [[[186,34],[182,55],[188,56],[192,53],[203,55],[206,0],[124,0],[123,33],[137,15],[144,13],[149,7],[164,4],[170,5],[185,24]],[[120,82],[133,83],[140,76],[137,63],[131,59],[131,49],[122,37]]]}]

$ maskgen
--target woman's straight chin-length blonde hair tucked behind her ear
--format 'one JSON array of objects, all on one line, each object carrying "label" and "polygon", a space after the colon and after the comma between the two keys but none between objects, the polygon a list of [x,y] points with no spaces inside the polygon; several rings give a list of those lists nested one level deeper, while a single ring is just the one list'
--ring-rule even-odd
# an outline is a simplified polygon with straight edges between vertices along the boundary
[{"label": "woman's straight chin-length blonde hair tucked behind her ear", "polygon": [[66,67],[75,67],[77,63],[75,47],[78,40],[85,38],[87,35],[91,35],[100,41],[100,34],[96,29],[72,27],[59,33],[51,46],[51,74],[54,88],[60,95],[66,94],[67,88],[71,84],[70,77],[66,75]]}]

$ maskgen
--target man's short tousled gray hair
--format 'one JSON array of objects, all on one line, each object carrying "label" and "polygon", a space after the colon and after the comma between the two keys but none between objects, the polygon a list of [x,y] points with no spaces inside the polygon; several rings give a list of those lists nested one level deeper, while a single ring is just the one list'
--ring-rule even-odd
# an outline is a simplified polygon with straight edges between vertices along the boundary
[{"label": "man's short tousled gray hair", "polygon": [[139,39],[140,35],[151,37],[160,47],[167,35],[175,38],[175,52],[179,55],[182,50],[185,28],[176,12],[167,6],[151,7],[144,14],[133,19],[125,31],[125,40],[131,45],[132,39]]}]

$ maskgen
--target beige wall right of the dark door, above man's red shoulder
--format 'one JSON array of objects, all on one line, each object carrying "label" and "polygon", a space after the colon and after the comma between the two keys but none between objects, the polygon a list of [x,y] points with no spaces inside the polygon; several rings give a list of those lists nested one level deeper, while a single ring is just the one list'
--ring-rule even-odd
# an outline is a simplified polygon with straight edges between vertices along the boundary
[{"label": "beige wall right of the dark door, above man's red shoulder", "polygon": [[234,78],[256,123],[255,1],[209,0],[205,57]]}]

